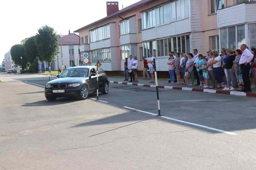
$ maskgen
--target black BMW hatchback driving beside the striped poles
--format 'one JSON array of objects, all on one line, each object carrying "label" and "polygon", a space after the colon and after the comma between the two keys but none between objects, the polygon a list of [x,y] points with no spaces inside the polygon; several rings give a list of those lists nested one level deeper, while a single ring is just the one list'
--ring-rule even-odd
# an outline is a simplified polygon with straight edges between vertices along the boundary
[{"label": "black BMW hatchback driving beside the striped poles", "polygon": [[[68,96],[84,100],[89,94],[97,92],[96,66],[70,67],[57,77],[45,86],[44,95],[49,101]],[[108,77],[100,67],[98,67],[98,84],[99,92],[107,94]]]}]

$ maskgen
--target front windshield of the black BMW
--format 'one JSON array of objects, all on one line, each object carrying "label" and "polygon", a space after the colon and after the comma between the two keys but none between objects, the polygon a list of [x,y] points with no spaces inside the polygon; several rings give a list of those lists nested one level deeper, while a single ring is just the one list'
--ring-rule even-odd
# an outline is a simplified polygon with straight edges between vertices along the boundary
[{"label": "front windshield of the black BMW", "polygon": [[66,69],[59,75],[61,77],[88,77],[88,68]]}]

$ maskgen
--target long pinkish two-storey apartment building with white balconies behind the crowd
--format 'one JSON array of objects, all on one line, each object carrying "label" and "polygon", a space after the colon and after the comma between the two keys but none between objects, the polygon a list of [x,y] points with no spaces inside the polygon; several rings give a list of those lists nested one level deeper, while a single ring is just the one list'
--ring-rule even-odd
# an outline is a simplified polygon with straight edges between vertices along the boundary
[{"label": "long pinkish two-storey apartment building with white balconies behind the crowd", "polygon": [[[170,51],[206,56],[209,48],[239,48],[256,45],[255,0],[141,0],[122,10],[118,2],[107,2],[107,17],[75,32],[80,53],[89,54],[105,71],[122,74],[129,55],[156,57],[157,71],[168,71]],[[239,12],[238,12],[239,11]]]}]

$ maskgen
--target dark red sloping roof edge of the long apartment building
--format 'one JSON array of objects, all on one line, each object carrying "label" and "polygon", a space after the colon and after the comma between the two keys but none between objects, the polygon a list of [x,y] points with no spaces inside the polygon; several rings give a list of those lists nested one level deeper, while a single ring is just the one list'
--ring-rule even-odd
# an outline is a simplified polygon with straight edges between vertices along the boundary
[{"label": "dark red sloping roof edge of the long apartment building", "polygon": [[116,15],[122,14],[123,12],[129,11],[129,10],[132,10],[132,9],[139,8],[140,6],[145,5],[146,3],[149,3],[149,2],[151,2],[151,1],[154,1],[154,0],[141,0],[141,1],[139,1],[139,2],[136,2],[136,3],[134,3],[134,4],[130,5],[130,6],[127,6],[126,8],[123,8],[123,9],[121,9],[121,10],[119,10],[119,11],[117,11],[117,12],[111,14],[111,15],[108,15],[108,16],[105,17],[105,18],[102,18],[102,19],[100,19],[100,20],[98,20],[98,21],[95,21],[95,22],[93,22],[93,23],[91,23],[91,24],[88,24],[87,26],[84,26],[84,27],[82,27],[82,28],[80,28],[80,29],[78,29],[78,30],[75,30],[74,32],[78,32],[79,30],[82,30],[82,29],[85,29],[85,28],[87,28],[87,27],[93,26],[94,24],[98,24],[98,23],[100,23],[101,21],[107,20],[108,18],[114,17],[114,16],[116,16]]}]

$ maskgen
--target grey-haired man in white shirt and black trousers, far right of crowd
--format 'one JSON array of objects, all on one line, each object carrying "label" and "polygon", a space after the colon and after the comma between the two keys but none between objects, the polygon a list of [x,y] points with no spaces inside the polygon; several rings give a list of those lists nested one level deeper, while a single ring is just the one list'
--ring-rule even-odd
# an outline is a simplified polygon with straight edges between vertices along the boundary
[{"label": "grey-haired man in white shirt and black trousers, far right of crowd", "polygon": [[250,62],[253,59],[253,54],[247,49],[246,44],[241,45],[241,50],[243,51],[242,56],[239,60],[239,65],[241,67],[242,77],[244,81],[244,92],[251,92],[251,81],[250,81]]}]

